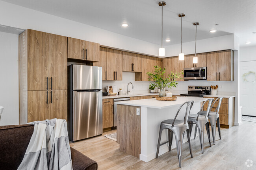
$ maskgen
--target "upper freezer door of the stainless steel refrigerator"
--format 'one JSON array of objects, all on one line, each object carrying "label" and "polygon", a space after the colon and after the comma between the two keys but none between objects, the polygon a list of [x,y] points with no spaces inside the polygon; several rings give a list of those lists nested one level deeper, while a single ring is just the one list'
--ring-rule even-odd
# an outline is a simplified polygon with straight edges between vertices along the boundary
[{"label": "upper freezer door of the stainless steel refrigerator", "polygon": [[102,67],[72,65],[73,90],[102,89]]}]

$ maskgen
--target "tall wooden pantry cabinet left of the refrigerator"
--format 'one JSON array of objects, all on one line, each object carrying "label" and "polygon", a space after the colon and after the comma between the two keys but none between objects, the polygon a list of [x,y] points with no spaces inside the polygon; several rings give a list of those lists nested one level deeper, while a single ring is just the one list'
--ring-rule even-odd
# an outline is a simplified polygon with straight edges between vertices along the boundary
[{"label": "tall wooden pantry cabinet left of the refrigerator", "polygon": [[67,37],[27,29],[19,36],[19,123],[67,119]]}]

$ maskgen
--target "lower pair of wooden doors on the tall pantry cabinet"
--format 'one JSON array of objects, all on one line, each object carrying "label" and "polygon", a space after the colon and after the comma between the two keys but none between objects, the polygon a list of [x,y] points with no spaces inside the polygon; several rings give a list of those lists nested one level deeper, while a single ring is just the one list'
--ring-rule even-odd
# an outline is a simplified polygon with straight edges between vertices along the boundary
[{"label": "lower pair of wooden doors on the tall pantry cabinet", "polygon": [[67,120],[67,90],[27,91],[27,93],[27,106],[24,106],[24,103],[23,108],[20,107],[20,120],[23,120],[20,124],[54,118]]}]

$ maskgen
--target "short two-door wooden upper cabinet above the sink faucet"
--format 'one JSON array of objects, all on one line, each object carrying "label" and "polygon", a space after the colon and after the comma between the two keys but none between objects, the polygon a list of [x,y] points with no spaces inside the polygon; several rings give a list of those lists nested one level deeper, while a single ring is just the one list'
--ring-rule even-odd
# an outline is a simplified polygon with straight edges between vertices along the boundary
[{"label": "short two-door wooden upper cabinet above the sink faucet", "polygon": [[122,51],[122,71],[141,72],[141,55]]}]

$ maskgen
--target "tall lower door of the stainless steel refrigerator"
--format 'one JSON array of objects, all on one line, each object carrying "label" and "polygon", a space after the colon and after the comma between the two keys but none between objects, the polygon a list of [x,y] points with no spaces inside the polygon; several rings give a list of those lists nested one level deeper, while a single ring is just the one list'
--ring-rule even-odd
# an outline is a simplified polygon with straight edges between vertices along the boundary
[{"label": "tall lower door of the stainless steel refrigerator", "polygon": [[73,91],[73,139],[102,134],[102,90]]}]

